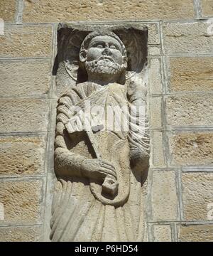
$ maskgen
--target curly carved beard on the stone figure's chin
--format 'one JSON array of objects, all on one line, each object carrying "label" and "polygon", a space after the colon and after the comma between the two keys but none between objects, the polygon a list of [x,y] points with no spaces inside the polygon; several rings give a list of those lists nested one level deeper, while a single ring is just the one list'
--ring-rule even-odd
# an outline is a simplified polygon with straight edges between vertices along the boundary
[{"label": "curly carved beard on the stone figure's chin", "polygon": [[112,62],[109,59],[85,61],[85,68],[89,73],[114,75],[124,71],[125,66]]}]

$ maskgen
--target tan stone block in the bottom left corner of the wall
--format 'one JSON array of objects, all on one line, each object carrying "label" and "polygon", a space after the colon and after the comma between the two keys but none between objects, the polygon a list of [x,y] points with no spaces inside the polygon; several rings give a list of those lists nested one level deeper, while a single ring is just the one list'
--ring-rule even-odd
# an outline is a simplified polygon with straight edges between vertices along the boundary
[{"label": "tan stone block in the bottom left corner of the wall", "polygon": [[38,242],[40,241],[40,226],[1,227],[1,242]]}]

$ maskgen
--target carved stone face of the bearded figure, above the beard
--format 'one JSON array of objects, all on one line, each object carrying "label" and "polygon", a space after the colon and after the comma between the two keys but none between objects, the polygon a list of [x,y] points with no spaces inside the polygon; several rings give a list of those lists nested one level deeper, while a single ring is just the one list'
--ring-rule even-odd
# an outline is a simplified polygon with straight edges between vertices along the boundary
[{"label": "carved stone face of the bearded figure, above the beard", "polygon": [[111,36],[92,38],[87,50],[87,61],[104,60],[121,65],[123,56],[120,43]]}]

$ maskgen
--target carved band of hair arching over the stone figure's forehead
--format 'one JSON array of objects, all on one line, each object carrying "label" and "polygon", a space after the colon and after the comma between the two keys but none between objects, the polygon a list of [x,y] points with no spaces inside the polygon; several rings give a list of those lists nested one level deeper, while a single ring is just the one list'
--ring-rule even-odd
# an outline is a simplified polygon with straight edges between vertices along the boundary
[{"label": "carved band of hair arching over the stone figure's forehead", "polygon": [[111,32],[111,31],[107,31],[107,30],[99,30],[99,31],[94,31],[94,32],[89,33],[89,35],[87,35],[84,38],[84,41],[82,42],[80,52],[82,50],[87,50],[87,48],[89,46],[89,43],[92,40],[92,38],[95,38],[97,36],[111,36],[112,38],[115,38],[116,41],[118,41],[119,44],[121,45],[121,50],[122,50],[123,57],[126,57],[126,60],[127,60],[126,47],[124,46],[124,43],[121,41],[119,36],[116,36],[115,33]]}]

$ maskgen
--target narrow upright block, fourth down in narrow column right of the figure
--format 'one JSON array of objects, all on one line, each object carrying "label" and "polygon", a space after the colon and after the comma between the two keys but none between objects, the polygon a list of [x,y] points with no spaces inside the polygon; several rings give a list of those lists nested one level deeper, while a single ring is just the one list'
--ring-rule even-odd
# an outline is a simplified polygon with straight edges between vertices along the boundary
[{"label": "narrow upright block, fourth down in narrow column right of the figure", "polygon": [[151,129],[157,129],[162,127],[162,97],[150,98],[150,127]]}]

